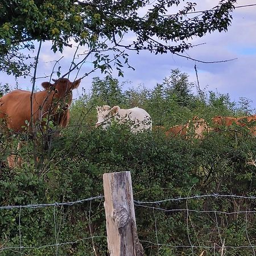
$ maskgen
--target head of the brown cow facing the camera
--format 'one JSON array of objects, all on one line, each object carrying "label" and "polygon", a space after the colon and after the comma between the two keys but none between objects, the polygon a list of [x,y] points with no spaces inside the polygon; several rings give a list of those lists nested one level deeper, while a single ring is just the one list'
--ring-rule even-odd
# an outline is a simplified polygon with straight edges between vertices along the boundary
[{"label": "head of the brown cow facing the camera", "polygon": [[54,84],[50,82],[42,82],[44,89],[49,90],[52,94],[52,100],[56,102],[57,108],[62,110],[68,110],[72,101],[72,90],[78,88],[81,79],[76,81],[69,81],[65,78],[52,79]]}]

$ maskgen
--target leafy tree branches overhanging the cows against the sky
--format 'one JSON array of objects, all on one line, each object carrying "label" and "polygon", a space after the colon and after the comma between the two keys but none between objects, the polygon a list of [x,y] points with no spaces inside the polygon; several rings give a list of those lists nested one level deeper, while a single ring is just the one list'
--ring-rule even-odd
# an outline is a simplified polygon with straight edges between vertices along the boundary
[{"label": "leafy tree branches overhanging the cows against the sky", "polygon": [[[52,42],[52,50],[72,47],[70,39],[94,52],[95,68],[112,68],[107,50],[114,52],[114,65],[122,75],[127,54],[121,49],[148,50],[154,53],[177,53],[192,47],[187,39],[207,32],[226,31],[236,0],[221,0],[201,15],[187,16],[196,3],[182,0],[11,0],[0,3],[0,67],[16,76],[28,73],[30,56],[24,49],[34,49],[35,42]],[[180,6],[169,14],[172,6]],[[142,14],[141,10],[146,11]],[[133,36],[130,36],[130,33]],[[130,40],[129,38],[134,38]],[[170,43],[171,42],[171,43]],[[80,63],[81,64],[81,63]],[[73,69],[77,68],[74,64]],[[129,66],[130,67],[130,66]]]}]

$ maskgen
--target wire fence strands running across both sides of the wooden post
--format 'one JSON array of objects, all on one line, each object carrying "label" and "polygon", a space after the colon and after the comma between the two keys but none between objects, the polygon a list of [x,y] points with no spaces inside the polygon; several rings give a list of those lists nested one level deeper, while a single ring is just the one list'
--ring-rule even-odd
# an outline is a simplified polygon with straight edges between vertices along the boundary
[{"label": "wire fence strands running across both sides of the wooden post", "polygon": [[[230,199],[244,199],[244,200],[256,200],[256,196],[238,196],[238,195],[220,195],[217,193],[213,193],[210,195],[195,195],[195,196],[187,196],[187,197],[176,197],[176,198],[171,198],[171,199],[164,199],[164,200],[158,200],[158,201],[138,201],[138,200],[134,200],[134,205],[135,207],[141,208],[141,209],[148,209],[148,210],[152,210],[152,214],[154,216],[154,224],[155,224],[155,239],[156,242],[154,241],[146,241],[146,240],[140,240],[141,243],[143,243],[143,245],[148,245],[148,246],[156,246],[156,249],[158,250],[158,252],[160,253],[160,250],[162,247],[169,247],[172,249],[177,249],[177,250],[190,250],[191,251],[191,255],[198,255],[196,250],[200,250],[201,254],[200,255],[204,255],[204,251],[205,250],[212,250],[212,255],[225,255],[225,253],[228,252],[229,249],[234,249],[234,250],[251,250],[251,255],[255,256],[255,251],[256,251],[256,245],[253,244],[253,242],[255,241],[254,239],[252,239],[251,234],[249,232],[248,229],[248,214],[255,214],[256,210],[236,210],[234,209],[233,211],[225,211],[225,210],[200,210],[200,209],[189,209],[189,200],[199,200],[199,199],[208,199],[209,197],[212,197],[213,199],[224,199],[224,198],[230,198]],[[0,253],[1,251],[5,251],[5,250],[15,250],[16,253],[20,254],[21,256],[25,253],[24,250],[32,250],[32,249],[44,249],[47,247],[55,247],[55,255],[59,255],[59,247],[60,246],[65,246],[65,245],[72,245],[81,241],[86,241],[86,240],[91,240],[92,241],[92,248],[93,251],[91,252],[94,255],[97,255],[96,249],[95,249],[95,242],[94,240],[96,238],[104,238],[106,239],[106,236],[93,236],[92,234],[92,229],[91,229],[91,207],[92,207],[92,201],[93,200],[97,200],[100,199],[101,202],[102,200],[104,200],[104,196],[100,195],[100,196],[94,196],[94,197],[89,197],[88,199],[83,199],[83,200],[77,200],[77,201],[72,201],[72,202],[67,202],[67,203],[52,203],[52,204],[29,204],[29,205],[3,205],[0,206],[0,210],[11,210],[11,209],[18,209],[18,233],[19,233],[19,246],[6,246],[6,242],[3,242],[2,244],[0,243]],[[64,207],[64,206],[72,206],[72,205],[76,205],[76,204],[82,204],[85,202],[90,202],[90,208],[89,208],[89,215],[87,215],[86,213],[86,218],[87,218],[87,222],[89,225],[89,237],[85,237],[85,238],[80,238],[77,239],[75,241],[67,241],[67,242],[60,242],[59,239],[59,232],[60,232],[60,228],[61,228],[61,223],[58,223],[57,221],[57,216],[56,216],[56,208],[57,207]],[[176,208],[164,208],[164,207],[160,207],[160,204],[163,203],[168,203],[168,202],[181,202],[184,201],[185,207],[179,209],[179,207],[177,207],[176,204]],[[183,205],[184,205],[183,204]],[[26,236],[26,234],[22,233],[22,221],[21,221],[21,214],[22,214],[22,209],[24,208],[31,208],[31,209],[37,209],[37,208],[44,208],[44,207],[53,207],[53,221],[54,221],[54,235],[53,237],[55,237],[55,243],[53,244],[49,244],[49,245],[40,245],[40,246],[23,246],[24,243],[22,243],[22,236]],[[98,205],[98,207],[96,207],[97,209],[100,207],[100,204]],[[166,213],[172,213],[172,212],[183,212],[185,214],[185,216],[187,216],[187,237],[188,237],[188,241],[189,244],[188,245],[179,245],[179,244],[168,244],[168,243],[161,243],[161,238],[159,237],[159,234],[161,233],[161,230],[159,229],[158,226],[158,219],[156,216],[156,211],[163,211]],[[214,225],[216,225],[216,228],[214,228],[215,230],[215,234],[217,235],[217,237],[219,238],[219,241],[200,241],[199,237],[197,237],[197,232],[196,232],[196,224],[195,222],[193,222],[193,218],[192,218],[192,213],[193,214],[209,214],[209,217],[211,218],[212,222]],[[214,215],[210,215],[210,214],[214,214]],[[248,245],[236,245],[236,246],[232,246],[232,245],[226,245],[224,243],[226,243],[224,237],[222,237],[222,233],[221,233],[221,225],[219,226],[218,224],[218,216],[217,214],[224,214],[225,216],[230,216],[231,214],[234,214],[234,216],[238,216],[238,214],[245,214],[245,236],[246,236],[246,240],[248,242]],[[192,237],[195,237],[194,241],[192,241]],[[208,243],[208,244],[204,244],[204,243]],[[220,244],[218,244],[218,242]],[[210,244],[209,244],[210,243]],[[158,253],[158,255],[160,255]],[[207,252],[209,253],[209,251]],[[161,254],[162,255],[162,254]],[[190,255],[190,254],[189,254]]]}]

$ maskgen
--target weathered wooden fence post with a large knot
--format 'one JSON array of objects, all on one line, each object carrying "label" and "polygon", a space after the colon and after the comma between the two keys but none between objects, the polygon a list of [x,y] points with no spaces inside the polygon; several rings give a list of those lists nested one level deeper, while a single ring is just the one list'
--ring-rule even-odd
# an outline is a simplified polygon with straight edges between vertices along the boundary
[{"label": "weathered wooden fence post with a large knot", "polygon": [[130,172],[103,175],[106,231],[110,256],[142,256],[135,221]]}]

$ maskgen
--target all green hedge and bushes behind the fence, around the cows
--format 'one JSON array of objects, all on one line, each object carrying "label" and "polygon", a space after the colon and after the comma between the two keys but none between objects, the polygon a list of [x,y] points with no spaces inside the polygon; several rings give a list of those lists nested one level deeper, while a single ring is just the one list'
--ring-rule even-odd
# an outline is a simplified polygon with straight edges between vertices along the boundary
[{"label": "all green hedge and bushes behind the fence, around the cows", "polygon": [[[23,158],[22,168],[10,170],[4,166],[19,136],[2,133],[0,204],[67,202],[102,195],[102,174],[119,171],[131,171],[134,199],[139,201],[212,193],[255,196],[256,167],[247,162],[256,156],[256,141],[245,127],[222,127],[201,140],[166,138],[158,130],[131,134],[126,127],[112,126],[106,131],[94,128],[95,106],[104,104],[140,106],[150,113],[153,126],[166,128],[186,123],[195,115],[211,123],[214,115],[252,113],[245,99],[236,107],[228,94],[200,92],[197,96],[188,79],[176,69],[152,90],[142,87],[123,92],[118,80],[95,78],[92,93],[73,104],[69,127],[53,139],[39,171],[34,168],[29,140],[17,152]],[[23,255],[108,255],[103,201],[0,209],[1,255],[20,254],[20,245],[24,246]],[[226,255],[253,255],[250,245],[256,244],[256,219],[249,211],[256,210],[255,200],[208,197],[148,206],[180,210],[135,207],[138,235],[146,255],[200,255],[203,250],[205,255],[213,255],[213,249],[207,247],[221,246],[224,239],[226,246],[249,246],[229,247]],[[227,215],[182,209],[248,213]],[[77,240],[58,247],[40,247]],[[219,249],[214,255],[221,255]]]}]

